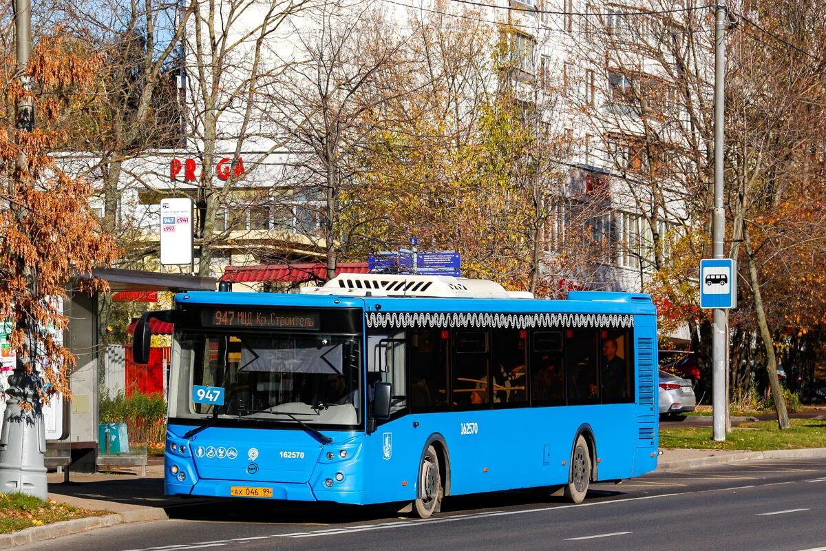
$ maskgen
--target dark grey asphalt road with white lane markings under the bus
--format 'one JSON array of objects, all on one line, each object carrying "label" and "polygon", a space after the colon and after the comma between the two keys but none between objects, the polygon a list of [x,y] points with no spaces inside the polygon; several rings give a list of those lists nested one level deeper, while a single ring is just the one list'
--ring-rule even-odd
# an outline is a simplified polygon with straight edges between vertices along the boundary
[{"label": "dark grey asphalt road with white lane markings under the bus", "polygon": [[15,549],[826,551],[824,496],[824,459],[765,461],[597,484],[581,505],[538,491],[454,497],[430,520],[377,507],[183,503],[172,520]]}]

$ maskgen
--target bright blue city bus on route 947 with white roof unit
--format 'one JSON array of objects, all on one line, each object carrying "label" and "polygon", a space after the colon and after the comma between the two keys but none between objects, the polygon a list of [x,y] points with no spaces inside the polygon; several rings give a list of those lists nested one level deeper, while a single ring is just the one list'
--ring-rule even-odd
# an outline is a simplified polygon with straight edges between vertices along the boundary
[{"label": "bright blue city bus on route 947 with white roof unit", "polygon": [[657,466],[648,295],[539,300],[466,278],[344,274],[301,294],[187,292],[174,323],[167,495],[346,504],[555,487]]}]

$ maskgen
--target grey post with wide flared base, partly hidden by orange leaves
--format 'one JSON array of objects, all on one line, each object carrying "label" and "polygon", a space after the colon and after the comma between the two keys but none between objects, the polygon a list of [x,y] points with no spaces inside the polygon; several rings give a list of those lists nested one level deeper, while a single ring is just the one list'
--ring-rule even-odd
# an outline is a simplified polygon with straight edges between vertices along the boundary
[{"label": "grey post with wide flared base, partly hidden by orange leaves", "polygon": [[[14,28],[17,62],[19,68],[24,69],[31,55],[31,0],[14,0]],[[31,90],[27,76],[22,75],[21,81],[23,88]],[[31,97],[23,97],[17,102],[17,130],[31,132],[34,128],[35,102]],[[26,160],[25,153],[18,154],[18,179],[12,185],[20,185],[20,173],[26,166]],[[31,332],[33,328],[26,323],[22,329]],[[21,328],[20,321],[17,327]],[[30,340],[30,349],[31,344]],[[40,366],[35,366],[38,367]],[[17,366],[8,378],[8,399],[0,436],[0,492],[22,492],[45,500],[49,496],[45,469],[45,430],[43,410],[36,390],[37,377],[37,373],[26,374],[26,365],[18,354]],[[23,411],[20,406],[26,402],[32,408]]]}]

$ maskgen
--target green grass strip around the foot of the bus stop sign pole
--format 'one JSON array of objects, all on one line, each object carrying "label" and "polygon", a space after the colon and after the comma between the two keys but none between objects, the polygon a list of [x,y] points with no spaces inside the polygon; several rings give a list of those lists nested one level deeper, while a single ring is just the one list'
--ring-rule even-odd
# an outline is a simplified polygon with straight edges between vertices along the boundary
[{"label": "green grass strip around the foot of the bus stop sign pole", "polygon": [[712,427],[661,427],[660,447],[665,449],[769,449],[826,448],[826,420],[791,419],[791,428],[780,430],[777,421],[741,423],[723,442],[715,442]]}]

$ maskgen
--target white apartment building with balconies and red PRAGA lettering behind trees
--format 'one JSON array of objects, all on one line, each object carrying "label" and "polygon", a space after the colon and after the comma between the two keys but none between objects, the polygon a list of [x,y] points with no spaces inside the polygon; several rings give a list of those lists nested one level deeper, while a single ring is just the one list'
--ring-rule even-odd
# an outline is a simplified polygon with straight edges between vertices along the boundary
[{"label": "white apartment building with balconies and red PRAGA lettering behind trees", "polygon": [[[491,82],[509,86],[563,142],[553,159],[565,167],[563,181],[549,179],[544,192],[543,277],[570,288],[644,290],[686,230],[683,157],[695,122],[684,106],[698,92],[681,78],[710,66],[707,51],[699,61],[694,52],[691,67],[681,57],[682,37],[700,15],[682,2],[373,0],[334,10],[329,2],[225,0],[213,40],[196,32],[209,13],[189,19],[175,75],[180,147],[124,164],[121,226],[154,243],[160,199],[192,197],[199,241],[211,242],[205,275],[221,277],[230,264],[325,262],[340,239],[335,185],[354,171],[335,160],[352,153],[342,137],[351,107],[341,100],[330,110],[325,100],[339,101],[335,94],[299,106],[274,73],[313,65],[307,56],[325,53],[308,37],[335,28],[334,12],[342,26],[353,23],[348,11],[365,3],[395,17],[401,34],[412,16],[496,29],[491,55],[505,45],[506,63],[495,64]],[[328,67],[328,77],[341,78],[335,63]]]}]

